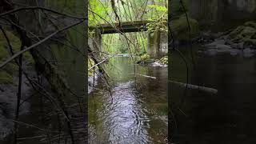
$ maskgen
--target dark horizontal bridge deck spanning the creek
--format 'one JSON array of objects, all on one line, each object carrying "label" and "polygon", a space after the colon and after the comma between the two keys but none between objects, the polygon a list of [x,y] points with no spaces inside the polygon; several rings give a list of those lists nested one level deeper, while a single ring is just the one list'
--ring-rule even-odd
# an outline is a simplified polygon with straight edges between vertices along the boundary
[{"label": "dark horizontal bridge deck spanning the creek", "polygon": [[146,24],[150,21],[115,22],[113,24],[100,24],[90,26],[90,30],[98,29],[100,34],[128,33],[146,31]]}]

